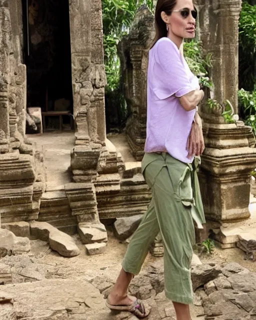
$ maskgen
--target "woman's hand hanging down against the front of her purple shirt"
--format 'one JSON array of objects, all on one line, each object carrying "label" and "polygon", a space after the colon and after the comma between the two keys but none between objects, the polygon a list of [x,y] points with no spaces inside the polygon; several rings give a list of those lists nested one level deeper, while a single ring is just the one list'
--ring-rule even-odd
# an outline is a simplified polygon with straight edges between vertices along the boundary
[{"label": "woman's hand hanging down against the front of her purple shirt", "polygon": [[202,134],[202,127],[200,123],[192,123],[191,131],[187,139],[186,149],[188,151],[187,157],[191,158],[194,155],[201,155],[204,150],[204,141]]}]

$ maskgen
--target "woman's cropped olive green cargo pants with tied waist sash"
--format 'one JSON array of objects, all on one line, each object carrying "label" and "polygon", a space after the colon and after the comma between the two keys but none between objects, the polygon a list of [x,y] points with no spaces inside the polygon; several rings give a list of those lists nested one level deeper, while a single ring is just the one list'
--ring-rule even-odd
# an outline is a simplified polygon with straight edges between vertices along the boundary
[{"label": "woman's cropped olive green cargo pants with tied waist sash", "polygon": [[195,242],[193,220],[199,228],[205,223],[195,161],[183,163],[166,152],[145,153],[142,173],[152,191],[152,200],[122,262],[126,272],[139,273],[149,245],[160,231],[165,295],[185,304],[193,302],[190,277]]}]

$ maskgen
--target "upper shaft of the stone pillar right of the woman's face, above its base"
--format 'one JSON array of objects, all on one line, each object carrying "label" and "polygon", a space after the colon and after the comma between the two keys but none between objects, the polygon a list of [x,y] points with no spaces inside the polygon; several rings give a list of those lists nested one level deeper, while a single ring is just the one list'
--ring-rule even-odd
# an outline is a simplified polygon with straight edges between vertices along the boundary
[{"label": "upper shaft of the stone pillar right of the woman's face, above its base", "polygon": [[229,99],[237,107],[238,20],[241,0],[195,0],[199,8],[199,33],[204,53],[212,53],[212,96]]}]

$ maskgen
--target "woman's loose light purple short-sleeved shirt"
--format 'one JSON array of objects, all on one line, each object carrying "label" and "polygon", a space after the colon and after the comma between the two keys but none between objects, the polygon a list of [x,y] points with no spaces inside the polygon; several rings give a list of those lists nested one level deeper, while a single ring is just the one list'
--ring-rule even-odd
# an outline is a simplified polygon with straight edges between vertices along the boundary
[{"label": "woman's loose light purple short-sleeved shirt", "polygon": [[198,79],[177,46],[160,38],[149,50],[145,152],[165,151],[191,163],[186,150],[195,109],[185,111],[178,97],[199,88]]}]

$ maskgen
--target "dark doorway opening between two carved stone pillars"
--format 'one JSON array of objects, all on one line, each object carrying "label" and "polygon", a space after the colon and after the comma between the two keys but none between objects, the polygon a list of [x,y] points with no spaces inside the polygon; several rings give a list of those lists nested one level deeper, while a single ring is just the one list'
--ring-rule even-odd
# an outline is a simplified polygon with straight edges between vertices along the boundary
[{"label": "dark doorway opening between two carved stone pillars", "polygon": [[[73,113],[68,0],[23,0],[23,59],[27,68],[27,107]],[[65,114],[65,112],[62,112]],[[45,117],[44,129],[58,129],[59,116]]]}]

